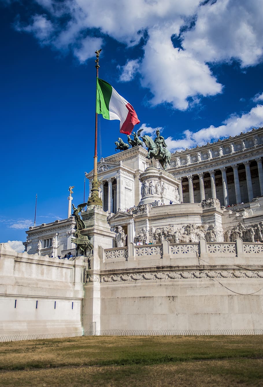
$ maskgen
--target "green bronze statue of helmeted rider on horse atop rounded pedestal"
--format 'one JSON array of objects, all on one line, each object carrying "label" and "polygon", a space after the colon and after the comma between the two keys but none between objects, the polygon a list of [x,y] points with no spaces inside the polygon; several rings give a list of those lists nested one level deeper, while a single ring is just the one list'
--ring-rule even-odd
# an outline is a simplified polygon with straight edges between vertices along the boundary
[{"label": "green bronze statue of helmeted rider on horse atop rounded pedestal", "polygon": [[152,166],[152,158],[159,160],[159,163],[166,171],[168,166],[171,165],[171,152],[167,149],[164,137],[160,136],[159,129],[156,130],[156,136],[154,141],[148,135],[143,135],[143,137],[141,137],[148,148],[148,155],[146,157],[151,160]]}]

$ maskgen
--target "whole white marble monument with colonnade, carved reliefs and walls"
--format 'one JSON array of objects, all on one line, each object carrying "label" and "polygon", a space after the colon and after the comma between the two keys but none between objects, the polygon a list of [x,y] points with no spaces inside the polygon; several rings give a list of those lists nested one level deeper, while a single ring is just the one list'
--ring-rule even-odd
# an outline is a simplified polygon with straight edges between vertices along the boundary
[{"label": "whole white marble monument with colonnade, carved reliefs and walls", "polygon": [[[72,217],[30,228],[23,254],[1,245],[9,327],[23,316],[11,299],[53,302],[61,286],[61,297],[82,303],[78,316],[63,312],[62,320],[84,331],[263,332],[263,128],[175,152],[167,171],[146,156],[134,147],[98,163],[103,208],[81,214],[94,245],[89,262],[57,259],[74,250]],[[23,318],[24,332],[42,324],[36,313],[31,325]]]}]

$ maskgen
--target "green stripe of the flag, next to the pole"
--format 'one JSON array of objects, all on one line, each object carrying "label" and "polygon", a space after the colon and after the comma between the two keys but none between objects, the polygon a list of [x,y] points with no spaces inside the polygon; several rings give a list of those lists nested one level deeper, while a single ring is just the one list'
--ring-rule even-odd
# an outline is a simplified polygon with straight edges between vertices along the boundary
[{"label": "green stripe of the flag, next to the pole", "polygon": [[109,104],[112,95],[112,86],[105,80],[97,78],[96,113],[102,114],[106,120],[110,119]]}]

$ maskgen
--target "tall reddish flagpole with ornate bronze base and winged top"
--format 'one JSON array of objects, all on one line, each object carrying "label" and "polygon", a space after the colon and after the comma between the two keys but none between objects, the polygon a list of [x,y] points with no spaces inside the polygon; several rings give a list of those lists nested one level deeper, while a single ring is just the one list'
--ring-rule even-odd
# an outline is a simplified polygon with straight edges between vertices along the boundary
[{"label": "tall reddish flagpole with ornate bronze base and winged top", "polygon": [[[98,69],[99,69],[99,57],[100,57],[100,50],[95,51],[96,54],[96,69],[97,69],[97,77],[96,77],[96,90],[97,90],[97,78],[98,78]],[[97,142],[98,142],[98,114],[95,113],[95,147],[94,147],[94,166],[93,166],[93,180],[92,180],[92,189],[91,189],[91,195],[88,198],[88,205],[101,205],[102,206],[102,200],[98,196],[98,188],[99,188],[99,182],[98,182],[98,169],[97,169],[97,163],[98,163],[98,156],[97,156]]]}]

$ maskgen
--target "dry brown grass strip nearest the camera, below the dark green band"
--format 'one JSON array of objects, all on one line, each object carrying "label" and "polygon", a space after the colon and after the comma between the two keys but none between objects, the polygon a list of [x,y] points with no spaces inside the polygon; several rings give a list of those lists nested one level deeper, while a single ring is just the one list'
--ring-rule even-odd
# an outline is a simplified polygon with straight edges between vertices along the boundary
[{"label": "dry brown grass strip nearest the camera, below the dark green band", "polygon": [[1,386],[60,387],[151,385],[170,387],[261,387],[262,360],[205,360],[152,366],[85,366],[0,372]]}]

